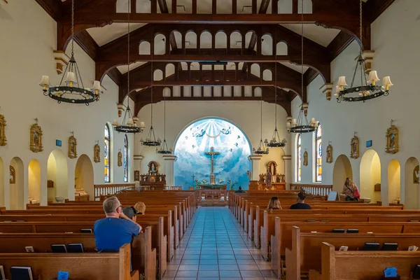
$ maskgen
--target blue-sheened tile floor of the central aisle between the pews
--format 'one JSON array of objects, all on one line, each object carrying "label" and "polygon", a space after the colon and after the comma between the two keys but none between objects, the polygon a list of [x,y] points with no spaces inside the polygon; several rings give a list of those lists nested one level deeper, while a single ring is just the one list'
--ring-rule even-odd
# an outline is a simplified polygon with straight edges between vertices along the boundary
[{"label": "blue-sheened tile floor of the central aisle between the pews", "polygon": [[175,252],[165,280],[276,279],[227,207],[200,207]]}]

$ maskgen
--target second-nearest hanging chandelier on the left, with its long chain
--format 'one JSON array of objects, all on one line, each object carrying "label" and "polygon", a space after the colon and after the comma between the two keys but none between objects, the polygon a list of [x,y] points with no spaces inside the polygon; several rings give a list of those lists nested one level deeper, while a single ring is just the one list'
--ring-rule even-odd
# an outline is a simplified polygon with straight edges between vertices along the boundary
[{"label": "second-nearest hanging chandelier on the left, with its long chain", "polygon": [[[130,10],[130,1],[128,1],[128,10]],[[138,118],[136,118],[138,119]],[[124,133],[139,133],[145,129],[144,123],[140,123],[140,127],[137,126],[137,121],[133,118],[130,110],[130,13],[128,13],[128,24],[127,24],[127,109],[124,113],[123,123],[119,124],[117,120],[114,120],[112,126],[117,132]]]}]

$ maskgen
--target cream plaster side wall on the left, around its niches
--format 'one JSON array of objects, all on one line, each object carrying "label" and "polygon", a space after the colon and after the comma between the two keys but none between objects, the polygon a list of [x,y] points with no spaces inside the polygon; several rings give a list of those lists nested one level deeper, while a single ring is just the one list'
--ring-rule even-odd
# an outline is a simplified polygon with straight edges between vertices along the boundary
[{"label": "cream plaster side wall on the left, around its niches", "polygon": [[[0,90],[1,111],[6,118],[7,146],[0,147],[0,157],[5,164],[3,173],[8,174],[8,162],[13,157],[22,159],[25,166],[25,195],[27,203],[28,166],[32,159],[41,166],[41,203],[47,202],[47,162],[55,148],[68,154],[68,139],[74,132],[78,141],[78,155],[86,154],[93,159],[93,146],[99,140],[104,158],[104,125],[118,118],[118,86],[106,76],[102,85],[106,91],[99,102],[90,106],[76,104],[57,104],[55,100],[43,96],[38,86],[42,75],[50,76],[50,82],[59,83],[61,76],[55,70],[52,51],[56,49],[57,23],[45,13],[36,1],[9,1],[0,9]],[[70,48],[66,52],[69,54]],[[75,45],[75,57],[85,87],[94,80],[94,61],[78,45]],[[43,130],[43,152],[29,151],[29,128],[38,118]],[[62,140],[62,147],[55,146],[55,140]],[[133,143],[134,137],[129,137]],[[118,148],[123,149],[123,134],[113,133],[113,154],[111,180],[123,182],[123,167],[117,167]],[[130,149],[132,151],[133,149]],[[132,160],[132,153],[130,154]],[[74,172],[77,159],[67,158],[68,194],[73,198]],[[93,162],[93,160],[92,160]],[[94,163],[94,183],[104,183],[103,162]],[[131,164],[130,164],[131,166]],[[131,172],[130,172],[131,173]],[[131,178],[131,174],[130,174]],[[9,194],[8,176],[3,176],[5,197]],[[7,195],[6,195],[7,194]],[[10,201],[5,200],[9,207]]]}]

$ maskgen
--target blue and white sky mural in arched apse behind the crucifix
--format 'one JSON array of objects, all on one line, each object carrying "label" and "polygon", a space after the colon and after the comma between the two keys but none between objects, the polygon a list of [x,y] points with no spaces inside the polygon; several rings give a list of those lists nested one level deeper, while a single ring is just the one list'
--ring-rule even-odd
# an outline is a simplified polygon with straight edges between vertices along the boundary
[{"label": "blue and white sky mural in arched apse behind the crucifix", "polygon": [[174,150],[178,157],[174,163],[175,186],[194,186],[193,175],[200,185],[210,183],[211,158],[206,153],[211,147],[218,153],[214,155],[216,184],[229,185],[231,180],[237,182],[235,188],[248,188],[248,137],[236,125],[219,118],[197,120],[179,134]]}]

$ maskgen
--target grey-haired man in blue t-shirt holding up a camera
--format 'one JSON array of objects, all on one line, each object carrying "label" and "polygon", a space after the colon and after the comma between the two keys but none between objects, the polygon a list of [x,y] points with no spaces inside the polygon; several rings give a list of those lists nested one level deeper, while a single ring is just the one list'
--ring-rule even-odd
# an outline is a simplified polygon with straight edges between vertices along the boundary
[{"label": "grey-haired man in blue t-shirt holding up a camera", "polygon": [[118,252],[139,235],[141,226],[123,213],[117,197],[107,198],[103,206],[106,218],[94,222],[94,241],[99,252]]}]

